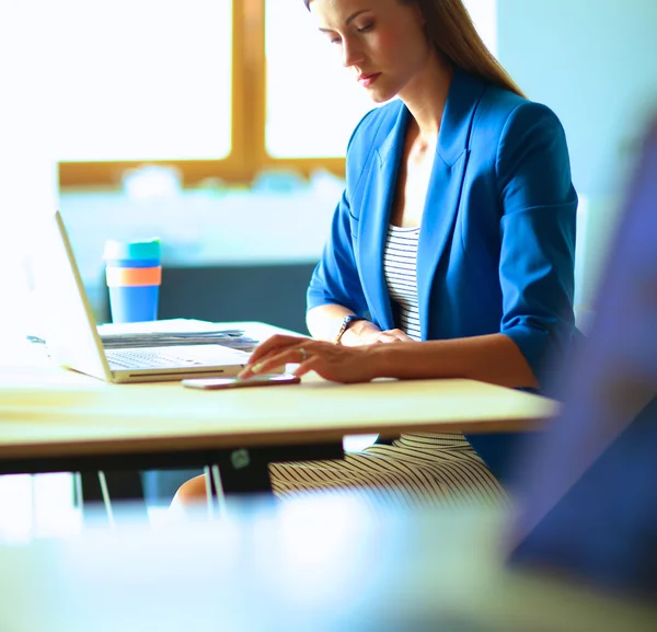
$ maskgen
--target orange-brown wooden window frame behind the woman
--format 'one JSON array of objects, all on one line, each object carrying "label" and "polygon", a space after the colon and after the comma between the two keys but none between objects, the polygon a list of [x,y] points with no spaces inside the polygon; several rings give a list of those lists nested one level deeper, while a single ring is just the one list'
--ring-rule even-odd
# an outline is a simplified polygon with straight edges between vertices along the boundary
[{"label": "orange-brown wooden window frame behind the woman", "polygon": [[203,180],[212,177],[232,184],[249,184],[266,169],[293,169],[304,176],[324,169],[344,176],[344,158],[274,158],[267,153],[265,0],[233,0],[231,66],[231,149],[226,158],[62,161],[58,163],[59,187],[117,187],[126,170],[142,164],[175,166],[185,187],[197,186]]}]

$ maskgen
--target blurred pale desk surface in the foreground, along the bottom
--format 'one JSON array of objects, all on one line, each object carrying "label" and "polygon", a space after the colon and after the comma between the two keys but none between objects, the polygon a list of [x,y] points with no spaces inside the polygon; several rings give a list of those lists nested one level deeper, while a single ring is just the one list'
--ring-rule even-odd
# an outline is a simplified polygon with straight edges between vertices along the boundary
[{"label": "blurred pale desk surface in the foreground, along the bottom", "polygon": [[511,572],[491,510],[394,514],[355,498],[0,548],[11,632],[643,632],[654,608]]}]

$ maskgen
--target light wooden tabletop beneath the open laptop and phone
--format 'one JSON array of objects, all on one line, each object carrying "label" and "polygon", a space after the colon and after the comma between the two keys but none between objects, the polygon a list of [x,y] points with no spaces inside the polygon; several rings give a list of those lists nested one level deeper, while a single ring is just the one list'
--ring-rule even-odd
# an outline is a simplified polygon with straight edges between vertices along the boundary
[{"label": "light wooden tabletop beneath the open laptop and phone", "polygon": [[0,366],[0,458],[531,430],[557,409],[545,398],[462,379],[338,384],[310,375],[298,386],[199,391],[180,382],[110,384],[48,363],[14,364]]}]

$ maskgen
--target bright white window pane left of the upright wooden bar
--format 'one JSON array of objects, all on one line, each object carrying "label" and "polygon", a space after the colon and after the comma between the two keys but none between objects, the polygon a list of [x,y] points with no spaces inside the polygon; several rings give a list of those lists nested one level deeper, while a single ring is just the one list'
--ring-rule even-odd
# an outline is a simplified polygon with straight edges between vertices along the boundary
[{"label": "bright white window pane left of the upright wooden bar", "polygon": [[62,161],[230,153],[230,0],[59,0]]}]

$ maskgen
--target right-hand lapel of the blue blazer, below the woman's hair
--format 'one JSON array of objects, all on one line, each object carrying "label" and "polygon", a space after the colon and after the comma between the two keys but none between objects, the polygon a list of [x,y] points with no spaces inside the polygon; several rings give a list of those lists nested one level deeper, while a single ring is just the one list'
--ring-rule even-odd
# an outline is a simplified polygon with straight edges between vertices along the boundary
[{"label": "right-hand lapel of the blue blazer, below the woman's hair", "polygon": [[417,246],[417,299],[423,340],[429,333],[429,307],[436,271],[446,254],[469,157],[474,112],[484,90],[482,80],[456,69],[438,135]]}]

